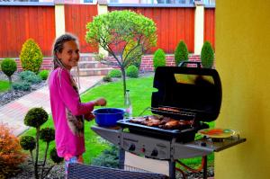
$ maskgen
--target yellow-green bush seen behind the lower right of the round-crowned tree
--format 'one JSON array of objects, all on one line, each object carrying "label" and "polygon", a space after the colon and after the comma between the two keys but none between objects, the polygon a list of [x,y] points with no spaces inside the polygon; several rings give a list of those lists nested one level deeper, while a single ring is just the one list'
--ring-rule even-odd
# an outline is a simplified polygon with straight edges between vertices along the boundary
[{"label": "yellow-green bush seen behind the lower right of the round-crowned tree", "polygon": [[[137,45],[137,42],[132,40],[130,41],[130,43],[127,44],[126,48],[124,49],[123,53],[122,53],[122,58],[126,58],[126,56],[129,54],[130,52],[130,49],[133,49],[135,46]],[[130,67],[130,66],[136,66],[140,67],[140,63],[141,63],[141,56],[142,56],[142,52],[141,52],[141,47],[137,47],[136,49],[132,50],[128,56],[128,58],[125,60],[125,61],[130,61],[130,63],[128,64],[127,67]],[[130,59],[130,57],[137,57],[137,58],[134,58],[134,59]]]}]

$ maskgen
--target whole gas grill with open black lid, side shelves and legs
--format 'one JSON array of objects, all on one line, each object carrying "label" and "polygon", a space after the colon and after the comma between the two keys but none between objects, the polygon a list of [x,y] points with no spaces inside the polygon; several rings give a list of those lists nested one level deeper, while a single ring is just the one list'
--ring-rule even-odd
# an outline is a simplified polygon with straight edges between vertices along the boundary
[{"label": "whole gas grill with open black lid, side shelves and legs", "polygon": [[[134,123],[130,118],[117,122],[120,130],[101,127],[92,127],[92,130],[119,146],[121,154],[128,151],[168,161],[170,178],[175,178],[175,160],[178,158],[201,156],[207,159],[206,156],[212,152],[246,141],[239,136],[219,141],[207,138],[194,140],[197,131],[209,128],[206,122],[215,121],[220,113],[221,84],[215,69],[157,67],[153,86],[157,92],[152,93],[151,107],[147,110],[176,121],[190,121],[187,125],[169,130]],[[204,178],[206,164],[207,160],[203,166]]]}]

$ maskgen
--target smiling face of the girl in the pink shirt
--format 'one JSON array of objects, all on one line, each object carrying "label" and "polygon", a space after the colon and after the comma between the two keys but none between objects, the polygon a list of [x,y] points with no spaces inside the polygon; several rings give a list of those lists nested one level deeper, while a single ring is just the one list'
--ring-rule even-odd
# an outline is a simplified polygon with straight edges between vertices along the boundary
[{"label": "smiling face of the girl in the pink shirt", "polygon": [[57,57],[68,70],[72,67],[76,67],[80,58],[76,41],[70,40],[64,42],[63,50],[57,53]]}]

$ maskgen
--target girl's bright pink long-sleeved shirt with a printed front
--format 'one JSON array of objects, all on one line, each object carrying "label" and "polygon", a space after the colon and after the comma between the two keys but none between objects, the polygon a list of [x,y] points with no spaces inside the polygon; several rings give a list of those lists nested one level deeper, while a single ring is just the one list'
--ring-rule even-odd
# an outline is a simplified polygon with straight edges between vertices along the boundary
[{"label": "girl's bright pink long-sleeved shirt with a printed front", "polygon": [[93,111],[94,103],[80,102],[72,76],[60,67],[49,76],[49,96],[58,157],[82,155],[85,152],[83,114]]}]

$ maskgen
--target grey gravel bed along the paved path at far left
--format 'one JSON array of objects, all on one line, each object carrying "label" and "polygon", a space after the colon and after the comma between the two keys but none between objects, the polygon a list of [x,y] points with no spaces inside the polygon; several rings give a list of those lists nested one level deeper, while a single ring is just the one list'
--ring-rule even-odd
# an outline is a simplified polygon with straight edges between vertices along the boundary
[{"label": "grey gravel bed along the paved path at far left", "polygon": [[[7,76],[4,75],[2,71],[0,71],[0,80],[8,80]],[[14,73],[12,76],[13,82],[19,81],[18,73]],[[3,106],[6,103],[10,103],[20,97],[22,97],[25,94],[30,94],[31,92],[39,89],[40,87],[43,87],[47,85],[46,81],[42,81],[40,84],[31,85],[30,91],[18,91],[18,90],[12,90],[5,93],[0,93],[0,107]]]}]

